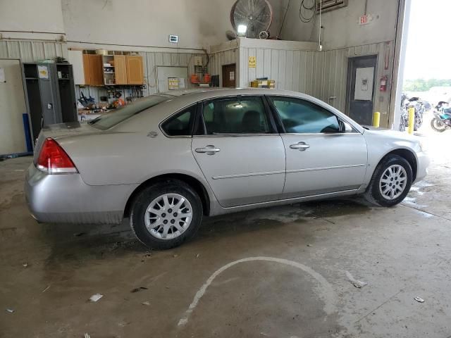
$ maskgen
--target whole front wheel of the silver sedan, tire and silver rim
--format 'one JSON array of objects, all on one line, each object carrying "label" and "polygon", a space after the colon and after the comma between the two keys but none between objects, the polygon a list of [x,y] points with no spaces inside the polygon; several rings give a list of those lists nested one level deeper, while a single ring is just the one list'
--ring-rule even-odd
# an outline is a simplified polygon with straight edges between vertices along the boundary
[{"label": "whole front wheel of the silver sedan, tire and silver rim", "polygon": [[405,158],[388,155],[374,170],[365,197],[379,206],[395,206],[409,194],[412,177],[412,167]]}]

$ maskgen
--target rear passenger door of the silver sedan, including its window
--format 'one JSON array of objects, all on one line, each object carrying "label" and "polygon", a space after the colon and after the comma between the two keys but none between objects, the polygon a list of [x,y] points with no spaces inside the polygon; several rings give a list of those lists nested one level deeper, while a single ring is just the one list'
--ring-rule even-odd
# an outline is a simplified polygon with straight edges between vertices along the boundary
[{"label": "rear passenger door of the silver sedan, including its window", "polygon": [[263,96],[205,101],[192,154],[223,207],[279,199],[285,149]]}]

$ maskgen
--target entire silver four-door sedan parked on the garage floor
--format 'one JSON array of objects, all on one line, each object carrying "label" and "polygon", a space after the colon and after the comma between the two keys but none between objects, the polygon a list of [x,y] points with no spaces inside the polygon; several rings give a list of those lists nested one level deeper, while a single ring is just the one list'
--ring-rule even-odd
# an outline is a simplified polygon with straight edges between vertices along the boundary
[{"label": "entire silver four-door sedan parked on the garage floor", "polygon": [[167,249],[203,215],[354,194],[394,206],[427,166],[415,137],[362,127],[311,96],[178,92],[45,127],[25,195],[40,222],[130,218],[141,242]]}]

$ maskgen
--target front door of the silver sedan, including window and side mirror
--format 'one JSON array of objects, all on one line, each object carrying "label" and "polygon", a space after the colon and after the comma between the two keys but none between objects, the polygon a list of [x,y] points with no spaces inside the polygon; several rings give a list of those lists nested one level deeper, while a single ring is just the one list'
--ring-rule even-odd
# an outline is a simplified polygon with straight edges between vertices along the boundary
[{"label": "front door of the silver sedan, including window and side mirror", "polygon": [[[285,96],[269,96],[269,101],[283,129],[284,198],[341,192],[362,185],[367,163],[362,134],[313,102]],[[342,130],[340,125],[347,128]]]}]

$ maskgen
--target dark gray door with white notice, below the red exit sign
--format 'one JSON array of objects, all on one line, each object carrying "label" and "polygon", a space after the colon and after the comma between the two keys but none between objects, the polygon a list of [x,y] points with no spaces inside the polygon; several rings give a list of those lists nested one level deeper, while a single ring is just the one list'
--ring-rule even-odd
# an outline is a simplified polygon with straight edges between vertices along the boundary
[{"label": "dark gray door with white notice, below the red exit sign", "polygon": [[350,58],[347,66],[346,113],[361,125],[371,125],[377,56]]}]

